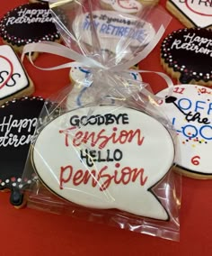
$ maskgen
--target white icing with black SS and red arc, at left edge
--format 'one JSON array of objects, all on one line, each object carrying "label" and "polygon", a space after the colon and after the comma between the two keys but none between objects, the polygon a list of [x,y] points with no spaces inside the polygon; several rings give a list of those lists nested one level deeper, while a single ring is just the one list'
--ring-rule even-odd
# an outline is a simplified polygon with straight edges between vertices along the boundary
[{"label": "white icing with black SS and red arc, at left edge", "polygon": [[12,48],[0,46],[0,99],[29,86],[29,80]]}]

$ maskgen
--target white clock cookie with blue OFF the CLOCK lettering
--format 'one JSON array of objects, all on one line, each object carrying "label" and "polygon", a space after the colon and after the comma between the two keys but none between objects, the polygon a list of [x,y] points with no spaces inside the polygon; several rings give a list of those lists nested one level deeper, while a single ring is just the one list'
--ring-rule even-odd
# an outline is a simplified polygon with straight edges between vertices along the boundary
[{"label": "white clock cookie with blue OFF the CLOCK lettering", "polygon": [[[158,94],[167,95],[167,89]],[[178,169],[191,178],[212,178],[212,89],[176,86],[160,104],[178,134]]]}]

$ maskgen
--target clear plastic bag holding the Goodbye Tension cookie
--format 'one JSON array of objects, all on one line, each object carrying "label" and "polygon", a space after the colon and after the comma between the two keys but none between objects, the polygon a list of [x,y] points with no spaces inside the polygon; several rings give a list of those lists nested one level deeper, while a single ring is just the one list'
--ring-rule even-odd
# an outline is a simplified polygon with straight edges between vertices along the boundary
[{"label": "clear plastic bag holding the Goodbye Tension cookie", "polygon": [[109,11],[96,1],[50,8],[66,47],[39,43],[24,52],[68,55],[75,62],[57,68],[81,67],[86,76],[49,97],[40,114],[22,178],[28,206],[179,240],[175,133],[151,87],[128,70],[153,49],[169,16],[151,5]]}]

